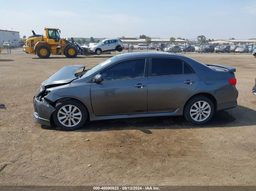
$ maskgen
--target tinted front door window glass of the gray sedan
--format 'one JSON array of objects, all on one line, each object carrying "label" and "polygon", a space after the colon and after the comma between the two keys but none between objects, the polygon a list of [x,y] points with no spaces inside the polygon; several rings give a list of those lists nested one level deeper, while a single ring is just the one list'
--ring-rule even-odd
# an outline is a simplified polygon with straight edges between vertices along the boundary
[{"label": "tinted front door window glass of the gray sedan", "polygon": [[120,62],[101,73],[103,81],[144,77],[145,59]]}]

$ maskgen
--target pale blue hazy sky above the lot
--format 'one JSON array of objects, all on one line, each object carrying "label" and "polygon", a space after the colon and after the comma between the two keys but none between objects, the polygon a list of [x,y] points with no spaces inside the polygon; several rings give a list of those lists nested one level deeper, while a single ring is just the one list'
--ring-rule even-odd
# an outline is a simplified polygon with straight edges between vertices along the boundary
[{"label": "pale blue hazy sky above the lot", "polygon": [[255,0],[0,0],[0,29],[20,37],[61,29],[62,38],[256,38]]}]

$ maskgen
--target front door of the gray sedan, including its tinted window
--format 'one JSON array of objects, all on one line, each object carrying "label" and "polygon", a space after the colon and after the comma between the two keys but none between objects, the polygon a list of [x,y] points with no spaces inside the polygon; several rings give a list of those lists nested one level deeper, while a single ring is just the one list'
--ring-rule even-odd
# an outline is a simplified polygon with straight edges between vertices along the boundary
[{"label": "front door of the gray sedan, including its tinted window", "polygon": [[146,63],[146,58],[131,59],[100,72],[103,81],[91,84],[91,105],[96,116],[147,113]]}]

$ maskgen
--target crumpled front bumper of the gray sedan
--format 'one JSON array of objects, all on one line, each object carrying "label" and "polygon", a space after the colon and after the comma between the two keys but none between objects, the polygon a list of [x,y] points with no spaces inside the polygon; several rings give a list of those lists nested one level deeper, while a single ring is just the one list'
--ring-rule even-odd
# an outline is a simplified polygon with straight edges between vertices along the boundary
[{"label": "crumpled front bumper of the gray sedan", "polygon": [[48,104],[45,101],[40,101],[37,96],[39,92],[35,94],[34,97],[34,112],[33,112],[33,117],[35,122],[51,126],[51,115],[55,111],[55,108],[52,107],[50,104]]}]

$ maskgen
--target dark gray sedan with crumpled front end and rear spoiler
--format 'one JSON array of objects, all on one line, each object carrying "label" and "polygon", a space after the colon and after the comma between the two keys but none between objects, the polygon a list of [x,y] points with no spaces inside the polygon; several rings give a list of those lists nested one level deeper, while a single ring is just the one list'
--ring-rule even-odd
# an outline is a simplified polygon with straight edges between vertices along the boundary
[{"label": "dark gray sedan with crumpled front end and rear spoiler", "polygon": [[85,68],[65,66],[41,84],[33,99],[36,122],[74,130],[86,121],[183,115],[202,125],[215,111],[237,106],[236,69],[230,66],[142,52]]}]

